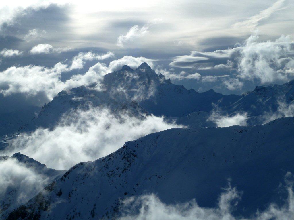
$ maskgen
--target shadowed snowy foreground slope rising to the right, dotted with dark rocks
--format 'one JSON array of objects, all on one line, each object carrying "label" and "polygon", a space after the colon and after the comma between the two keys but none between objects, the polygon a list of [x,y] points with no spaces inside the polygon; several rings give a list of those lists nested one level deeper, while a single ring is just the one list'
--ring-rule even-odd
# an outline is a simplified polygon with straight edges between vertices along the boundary
[{"label": "shadowed snowy foreground slope rising to the right, dotted with dark rocks", "polygon": [[228,178],[243,192],[236,213],[249,215],[283,198],[280,182],[294,172],[293,132],[289,117],[250,127],[152,133],[75,165],[8,219],[114,218],[120,198],[151,192],[165,203],[196,198],[200,206],[214,207]]}]

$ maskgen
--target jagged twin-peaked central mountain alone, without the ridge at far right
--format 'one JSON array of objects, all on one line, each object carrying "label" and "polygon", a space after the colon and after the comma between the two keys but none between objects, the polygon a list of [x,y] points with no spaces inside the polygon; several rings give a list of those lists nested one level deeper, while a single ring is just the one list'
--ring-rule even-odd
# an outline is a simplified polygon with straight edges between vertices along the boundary
[{"label": "jagged twin-peaked central mountain alone, without the ridge at far right", "polygon": [[[136,70],[125,65],[121,70],[106,74],[98,89],[95,84],[60,92],[20,131],[33,131],[36,127],[51,128],[63,114],[78,108],[87,109],[89,105],[103,106],[114,111],[121,104],[129,102],[136,103],[148,114],[182,117],[197,111],[211,111],[212,103],[219,101],[219,105],[225,108],[239,98],[238,95],[226,96],[212,89],[199,93],[172,84],[163,75],[157,75],[146,63],[142,63]],[[128,105],[128,110],[137,111],[133,105]]]}]

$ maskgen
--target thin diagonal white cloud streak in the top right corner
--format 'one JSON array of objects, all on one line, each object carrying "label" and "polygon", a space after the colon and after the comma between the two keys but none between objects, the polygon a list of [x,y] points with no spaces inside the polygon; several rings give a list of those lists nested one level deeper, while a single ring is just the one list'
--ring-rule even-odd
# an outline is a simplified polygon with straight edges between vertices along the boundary
[{"label": "thin diagonal white cloud streak in the top right corner", "polygon": [[237,22],[233,24],[234,28],[244,28],[244,27],[250,27],[250,28],[255,28],[258,26],[259,22],[269,18],[273,13],[276,11],[285,9],[285,7],[282,8],[284,5],[285,0],[278,0],[276,1],[273,5],[268,7],[267,9],[260,11],[260,13],[250,17],[248,20],[242,21],[242,22]]}]

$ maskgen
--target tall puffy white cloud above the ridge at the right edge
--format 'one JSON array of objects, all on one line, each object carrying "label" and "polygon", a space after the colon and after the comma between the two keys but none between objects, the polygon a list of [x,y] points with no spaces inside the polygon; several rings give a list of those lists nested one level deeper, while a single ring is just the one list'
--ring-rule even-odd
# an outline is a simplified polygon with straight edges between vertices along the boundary
[{"label": "tall puffy white cloud above the ridge at the right edge", "polygon": [[238,62],[238,75],[240,79],[253,80],[259,79],[261,83],[271,83],[275,80],[288,80],[285,57],[292,59],[291,53],[294,42],[290,36],[281,36],[275,41],[258,42],[258,35],[251,35],[245,42],[240,52]]}]

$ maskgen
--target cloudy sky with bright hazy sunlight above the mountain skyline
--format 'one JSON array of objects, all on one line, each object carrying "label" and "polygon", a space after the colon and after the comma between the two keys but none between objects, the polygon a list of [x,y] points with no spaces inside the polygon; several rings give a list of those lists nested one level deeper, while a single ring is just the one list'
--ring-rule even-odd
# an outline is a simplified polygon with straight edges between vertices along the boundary
[{"label": "cloudy sky with bright hazy sunlight above the mountain skyline", "polygon": [[0,104],[42,106],[141,62],[198,92],[282,84],[294,79],[293,11],[290,0],[7,1]]}]

